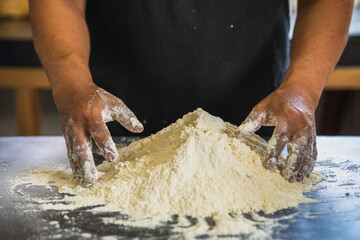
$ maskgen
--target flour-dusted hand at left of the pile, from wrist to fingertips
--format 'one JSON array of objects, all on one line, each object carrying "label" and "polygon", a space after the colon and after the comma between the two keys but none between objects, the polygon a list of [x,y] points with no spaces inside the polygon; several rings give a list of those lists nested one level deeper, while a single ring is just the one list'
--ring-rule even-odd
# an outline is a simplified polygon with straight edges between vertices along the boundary
[{"label": "flour-dusted hand at left of the pile, from wrist to fingertips", "polygon": [[92,186],[98,172],[92,155],[91,138],[98,145],[105,160],[118,157],[115,143],[106,122],[116,120],[127,130],[140,133],[143,125],[119,98],[94,83],[81,88],[69,88],[54,93],[60,113],[61,128],[74,177],[84,187]]}]

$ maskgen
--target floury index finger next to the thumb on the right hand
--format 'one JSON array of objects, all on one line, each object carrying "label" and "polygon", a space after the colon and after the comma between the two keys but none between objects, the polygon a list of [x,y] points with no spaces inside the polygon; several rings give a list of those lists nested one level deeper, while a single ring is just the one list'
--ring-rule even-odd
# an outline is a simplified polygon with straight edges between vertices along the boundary
[{"label": "floury index finger next to the thumb on the right hand", "polygon": [[267,147],[265,165],[269,169],[274,170],[276,165],[283,164],[280,156],[288,141],[289,133],[286,131],[286,126],[284,126],[284,124],[277,126],[274,130],[274,134],[269,140],[269,145]]}]

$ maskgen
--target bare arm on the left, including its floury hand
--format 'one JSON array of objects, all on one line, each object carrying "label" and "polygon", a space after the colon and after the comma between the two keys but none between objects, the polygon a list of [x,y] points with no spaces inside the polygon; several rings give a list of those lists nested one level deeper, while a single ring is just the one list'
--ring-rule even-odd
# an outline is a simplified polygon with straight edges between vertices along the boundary
[{"label": "bare arm on the left, including its floury hand", "polygon": [[117,120],[132,132],[141,132],[143,126],[120,99],[92,81],[85,5],[85,0],[30,0],[30,17],[35,49],[59,110],[70,166],[84,186],[91,186],[98,178],[91,138],[104,158],[114,161],[118,152],[105,123]]}]

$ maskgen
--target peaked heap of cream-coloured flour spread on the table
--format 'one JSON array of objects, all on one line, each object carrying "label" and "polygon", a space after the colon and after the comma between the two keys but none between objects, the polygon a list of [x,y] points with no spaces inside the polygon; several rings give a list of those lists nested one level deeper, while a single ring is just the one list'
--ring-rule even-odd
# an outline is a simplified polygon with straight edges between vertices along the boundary
[{"label": "peaked heap of cream-coloured flour spread on the table", "polygon": [[[303,183],[285,181],[279,170],[264,167],[267,143],[255,134],[236,137],[235,129],[197,109],[119,149],[119,160],[97,167],[99,179],[91,188],[81,187],[61,169],[37,169],[28,180],[38,185],[51,182],[59,192],[75,194],[66,200],[77,207],[104,204],[103,211],[152,219],[171,214],[211,216],[216,221],[212,231],[226,234],[255,230],[240,217],[242,213],[273,213],[314,202],[303,193],[314,189],[321,174],[314,172]],[[198,225],[202,228],[201,221]]]}]

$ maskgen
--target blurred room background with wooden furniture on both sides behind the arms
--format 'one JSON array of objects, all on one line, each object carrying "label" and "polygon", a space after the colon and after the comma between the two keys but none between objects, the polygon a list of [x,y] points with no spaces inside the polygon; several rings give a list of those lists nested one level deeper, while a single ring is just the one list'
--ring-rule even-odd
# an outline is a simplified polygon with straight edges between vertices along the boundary
[{"label": "blurred room background with wooden furniture on both sides behind the arms", "polygon": [[[290,0],[292,25],[296,2]],[[316,115],[320,135],[360,135],[360,0],[355,0],[348,44]],[[17,135],[61,135],[61,129],[32,44],[28,2],[0,0],[0,136]]]}]

